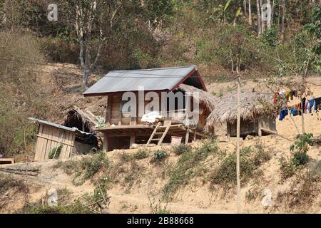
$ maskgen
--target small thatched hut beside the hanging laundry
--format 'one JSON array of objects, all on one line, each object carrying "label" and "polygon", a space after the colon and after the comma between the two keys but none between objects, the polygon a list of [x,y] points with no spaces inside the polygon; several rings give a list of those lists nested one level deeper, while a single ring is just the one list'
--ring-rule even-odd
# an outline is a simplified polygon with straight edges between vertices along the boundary
[{"label": "small thatched hut beside the hanging laundry", "polygon": [[[207,118],[205,128],[227,123],[228,134],[235,135],[238,115],[238,93],[229,93],[216,103]],[[256,134],[263,130],[275,131],[273,93],[242,92],[240,94],[241,135]],[[260,133],[258,133],[260,135]]]}]

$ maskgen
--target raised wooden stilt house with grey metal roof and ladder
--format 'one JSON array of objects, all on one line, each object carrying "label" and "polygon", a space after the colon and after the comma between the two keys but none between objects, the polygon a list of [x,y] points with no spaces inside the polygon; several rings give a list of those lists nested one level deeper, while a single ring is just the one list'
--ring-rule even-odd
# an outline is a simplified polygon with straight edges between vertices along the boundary
[{"label": "raised wooden stilt house with grey metal roof and ladder", "polygon": [[[140,88],[143,88],[143,100],[139,97]],[[134,115],[131,110],[123,110],[128,101],[123,100],[126,92],[134,93],[137,97]],[[150,102],[146,100],[146,95],[149,92],[158,95],[156,103],[159,107],[167,99],[162,96],[164,93],[183,93],[184,105],[179,108],[180,101],[175,100],[175,107],[159,110],[161,118],[154,124],[147,124],[142,121],[139,110],[143,106],[141,110],[146,114]],[[192,97],[195,93],[199,95],[200,113],[191,113],[185,105],[190,99],[190,105],[193,107]],[[204,130],[205,120],[218,101],[207,92],[196,66],[111,71],[88,88],[83,95],[108,96],[106,125],[96,128],[103,136],[104,149],[108,151],[126,149],[133,143],[161,145],[162,142],[170,142],[172,136],[184,138],[185,142],[207,137],[210,130]],[[193,119],[195,115],[199,117],[197,123],[193,126],[186,124],[187,116]]]}]

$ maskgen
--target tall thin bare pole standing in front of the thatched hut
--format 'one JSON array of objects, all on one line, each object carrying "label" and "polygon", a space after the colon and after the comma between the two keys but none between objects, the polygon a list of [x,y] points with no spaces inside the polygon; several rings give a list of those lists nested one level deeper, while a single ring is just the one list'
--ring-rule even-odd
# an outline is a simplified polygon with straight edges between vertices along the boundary
[{"label": "tall thin bare pole standing in front of the thatched hut", "polygon": [[236,125],[236,182],[237,182],[237,211],[240,214],[240,75],[238,79],[238,120]]}]

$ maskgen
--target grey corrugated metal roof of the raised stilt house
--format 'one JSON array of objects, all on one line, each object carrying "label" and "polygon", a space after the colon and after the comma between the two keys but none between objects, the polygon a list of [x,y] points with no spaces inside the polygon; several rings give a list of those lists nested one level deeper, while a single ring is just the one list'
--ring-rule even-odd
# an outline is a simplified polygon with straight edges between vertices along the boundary
[{"label": "grey corrugated metal roof of the raised stilt house", "polygon": [[83,95],[144,90],[171,90],[197,66],[111,71]]}]

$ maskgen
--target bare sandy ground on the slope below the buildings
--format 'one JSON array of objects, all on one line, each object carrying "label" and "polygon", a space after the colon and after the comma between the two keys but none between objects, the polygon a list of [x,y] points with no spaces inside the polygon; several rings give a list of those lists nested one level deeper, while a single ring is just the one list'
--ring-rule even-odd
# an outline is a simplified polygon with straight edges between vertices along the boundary
[{"label": "bare sandy ground on the slope below the buildings", "polygon": [[[284,192],[289,190],[290,184],[293,182],[294,177],[290,178],[286,182],[280,182],[280,165],[278,159],[282,155],[290,155],[289,141],[277,136],[265,136],[263,138],[254,138],[252,140],[243,140],[242,147],[254,145],[261,142],[265,145],[267,150],[272,152],[272,159],[265,163],[261,168],[263,170],[263,177],[260,178],[260,188],[269,188],[272,191],[272,207],[265,208],[260,203],[260,197],[255,199],[254,202],[246,202],[245,192],[251,187],[255,180],[251,180],[247,185],[242,187],[241,200],[242,200],[242,212],[243,213],[278,213],[278,212],[321,212],[321,196],[315,198],[314,203],[304,207],[290,209],[280,207],[273,207],[278,192]],[[197,145],[193,145],[197,146]],[[221,150],[227,152],[235,151],[235,139],[231,139],[230,142],[220,142]],[[156,150],[156,148],[153,148]],[[126,150],[129,154],[136,152],[136,150]],[[108,153],[108,157],[113,162],[120,160],[121,151],[115,150]],[[320,147],[313,147],[309,151],[310,160],[315,162],[320,160],[321,152]],[[177,155],[170,154],[168,159],[168,165],[174,164],[178,160]],[[38,200],[46,194],[51,188],[63,188],[73,192],[73,197],[81,197],[84,193],[93,192],[94,186],[90,181],[85,182],[81,186],[74,186],[71,184],[72,176],[66,175],[62,170],[54,170],[52,166],[56,161],[48,160],[45,162],[34,162],[33,165],[41,166],[41,174],[39,177],[29,177],[29,187],[31,192],[29,199],[31,201]],[[213,166],[210,160],[205,162],[209,168]],[[223,192],[220,189],[210,190],[208,183],[203,183],[200,178],[193,179],[190,185],[180,189],[176,194],[173,201],[165,204],[160,199],[161,189],[168,181],[168,178],[161,177],[161,173],[165,170],[166,165],[157,166],[151,165],[149,159],[138,161],[141,174],[136,177],[133,187],[128,191],[129,183],[124,180],[122,174],[119,174],[119,180],[117,184],[113,185],[108,194],[111,196],[110,210],[111,213],[150,213],[153,212],[153,208],[158,204],[161,207],[165,207],[171,212],[176,213],[234,213],[235,212],[235,190],[230,190],[228,195],[223,197]],[[131,167],[125,166],[125,173],[130,172]],[[103,175],[103,174],[101,174]],[[21,177],[17,177],[21,178]],[[319,186],[321,183],[319,183]],[[15,196],[11,204],[8,204],[5,210],[2,212],[14,212],[14,209],[18,209],[23,204],[23,195]],[[160,201],[159,201],[160,200]]]}]

